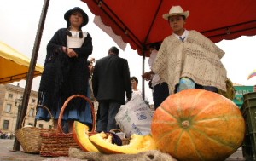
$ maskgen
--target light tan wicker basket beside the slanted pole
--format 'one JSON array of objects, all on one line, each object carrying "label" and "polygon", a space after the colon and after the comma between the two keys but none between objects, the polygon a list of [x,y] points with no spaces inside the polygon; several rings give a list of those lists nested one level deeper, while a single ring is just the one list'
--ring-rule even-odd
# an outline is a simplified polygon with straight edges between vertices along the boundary
[{"label": "light tan wicker basket beside the slanted pole", "polygon": [[[39,105],[38,107],[45,108],[48,112],[49,109],[46,106]],[[51,133],[54,132],[54,129],[42,129],[37,127],[24,127],[25,120],[29,112],[26,113],[26,116],[24,117],[22,121],[22,128],[15,131],[15,136],[17,140],[20,142],[21,147],[23,148],[23,151],[26,153],[39,153],[41,149],[41,132],[47,132]],[[53,117],[51,112],[49,112],[51,116],[51,121],[53,123]]]}]

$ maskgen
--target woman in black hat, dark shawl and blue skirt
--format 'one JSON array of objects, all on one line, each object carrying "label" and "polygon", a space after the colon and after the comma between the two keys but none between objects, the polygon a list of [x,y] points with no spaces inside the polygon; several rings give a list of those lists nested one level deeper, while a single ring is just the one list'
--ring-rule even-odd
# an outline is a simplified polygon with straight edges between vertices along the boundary
[{"label": "woman in black hat, dark shawl and blue skirt", "polygon": [[[92,53],[92,41],[82,27],[88,23],[88,15],[83,9],[75,7],[64,14],[67,28],[61,28],[50,39],[44,62],[44,72],[39,87],[38,101],[47,106],[57,119],[64,101],[71,95],[86,95],[88,89],[88,56]],[[75,98],[65,109],[63,119],[67,121],[71,132],[73,120],[91,124],[90,106],[86,101]],[[49,114],[39,109],[38,119],[49,120]],[[63,122],[63,121],[62,121]]]}]

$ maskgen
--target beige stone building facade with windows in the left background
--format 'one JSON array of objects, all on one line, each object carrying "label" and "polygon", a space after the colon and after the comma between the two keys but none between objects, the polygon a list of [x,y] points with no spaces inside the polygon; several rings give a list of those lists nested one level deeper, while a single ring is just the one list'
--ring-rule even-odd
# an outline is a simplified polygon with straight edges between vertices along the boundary
[{"label": "beige stone building facade with windows in the left background", "polygon": [[[0,84],[0,130],[3,133],[15,133],[17,116],[22,105],[24,88],[12,84]],[[31,91],[23,126],[35,124],[36,107],[38,104],[38,92]],[[51,121],[38,121],[36,127],[51,129]]]}]

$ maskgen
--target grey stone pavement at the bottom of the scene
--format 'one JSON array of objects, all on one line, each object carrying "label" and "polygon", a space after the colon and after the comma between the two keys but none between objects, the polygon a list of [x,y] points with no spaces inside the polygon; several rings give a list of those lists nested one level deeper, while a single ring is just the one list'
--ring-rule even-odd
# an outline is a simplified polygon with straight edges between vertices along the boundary
[{"label": "grey stone pavement at the bottom of the scene", "polygon": [[[9,139],[0,139],[0,161],[40,161],[47,159],[46,157],[40,157],[39,154],[29,154],[22,152],[22,148],[20,147],[20,151],[12,152],[14,146],[14,140]],[[65,159],[66,160],[66,159]],[[227,158],[226,161],[245,161],[245,158],[242,157],[241,147],[233,153],[230,158]]]}]

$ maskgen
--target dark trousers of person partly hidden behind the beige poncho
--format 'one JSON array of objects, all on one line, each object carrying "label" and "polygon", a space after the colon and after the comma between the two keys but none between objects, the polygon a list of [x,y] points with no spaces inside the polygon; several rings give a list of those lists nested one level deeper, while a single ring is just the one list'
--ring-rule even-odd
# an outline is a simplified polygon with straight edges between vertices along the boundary
[{"label": "dark trousers of person partly hidden behind the beige poncho", "polygon": [[167,83],[156,84],[153,90],[154,109],[156,110],[168,96],[169,88]]}]

